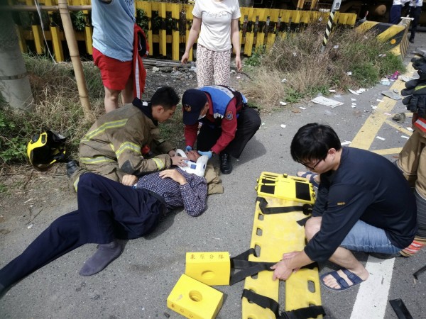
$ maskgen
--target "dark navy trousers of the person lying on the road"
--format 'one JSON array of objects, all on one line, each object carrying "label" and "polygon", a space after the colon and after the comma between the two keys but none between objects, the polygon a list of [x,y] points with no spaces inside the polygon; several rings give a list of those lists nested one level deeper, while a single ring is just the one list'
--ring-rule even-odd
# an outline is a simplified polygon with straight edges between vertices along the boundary
[{"label": "dark navy trousers of the person lying on the road", "polygon": [[155,228],[163,211],[163,203],[148,191],[92,173],[80,177],[77,199],[77,211],[56,219],[22,254],[0,269],[0,284],[10,286],[87,243],[141,237]]}]

